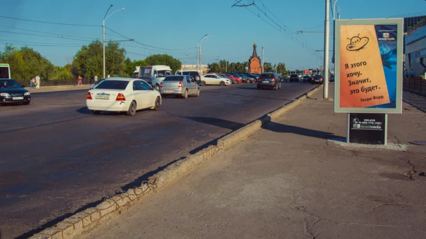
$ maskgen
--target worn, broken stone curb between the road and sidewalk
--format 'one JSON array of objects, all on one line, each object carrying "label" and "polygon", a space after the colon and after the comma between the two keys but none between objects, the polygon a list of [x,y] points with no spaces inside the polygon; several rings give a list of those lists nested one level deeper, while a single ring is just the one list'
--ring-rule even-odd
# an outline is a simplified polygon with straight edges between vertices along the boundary
[{"label": "worn, broken stone curb between the road and sidewalk", "polygon": [[270,122],[273,118],[281,116],[285,112],[292,110],[305,98],[307,98],[306,96],[310,96],[322,88],[323,85],[319,85],[310,92],[307,92],[298,98],[296,101],[280,107],[278,110],[274,110],[274,112],[262,116],[256,121],[245,125],[241,129],[219,138],[217,145],[210,145],[209,147],[201,149],[195,154],[191,154],[182,160],[172,163],[172,165],[169,165],[161,172],[158,172],[154,176],[150,177],[148,181],[143,181],[140,187],[128,189],[128,191],[124,193],[116,194],[111,198],[105,199],[96,207],[91,207],[74,214],[73,216],[70,216],[70,218],[66,218],[57,225],[54,225],[54,227],[50,227],[37,234],[34,234],[30,237],[30,239],[77,238],[77,236],[81,235],[85,231],[88,231],[90,228],[121,214],[121,211],[128,209],[130,205],[141,200],[145,194],[150,194],[152,191],[156,192],[156,189],[167,185],[167,183],[170,183],[172,180],[178,178],[182,174],[185,174],[190,169],[193,169],[197,165],[203,163],[205,160],[212,158],[219,151],[227,149],[241,141],[241,139],[250,136],[250,134],[253,134],[258,129],[261,129],[262,125]]}]

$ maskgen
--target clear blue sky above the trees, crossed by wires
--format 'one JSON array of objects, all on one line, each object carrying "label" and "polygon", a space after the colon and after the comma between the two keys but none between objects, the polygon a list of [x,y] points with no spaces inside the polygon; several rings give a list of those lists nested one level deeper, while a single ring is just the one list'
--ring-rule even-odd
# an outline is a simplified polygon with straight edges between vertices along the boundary
[{"label": "clear blue sky above the trees, crossed by wires", "polygon": [[[241,3],[250,1],[242,0]],[[110,4],[114,4],[109,13],[120,8],[125,10],[116,12],[105,25],[125,37],[149,45],[121,43],[132,60],[142,60],[150,54],[170,54],[182,63],[195,64],[196,43],[209,34],[212,38],[201,45],[203,63],[213,63],[217,59],[247,61],[255,40],[259,56],[264,48],[265,62],[283,62],[288,69],[323,65],[323,52],[316,52],[323,50],[323,34],[294,33],[323,30],[325,1],[254,2],[258,9],[256,6],[231,8],[234,0],[0,0],[0,16],[3,17],[97,25],[54,25],[0,17],[0,49],[3,50],[6,42],[17,47],[28,45],[54,65],[65,65],[72,61],[81,45],[88,45],[92,39],[102,39],[103,17]],[[341,19],[386,18],[422,12],[426,9],[426,1],[339,0],[338,6]],[[281,32],[276,30],[277,25],[282,27]],[[124,39],[108,29],[106,33],[107,41]]]}]

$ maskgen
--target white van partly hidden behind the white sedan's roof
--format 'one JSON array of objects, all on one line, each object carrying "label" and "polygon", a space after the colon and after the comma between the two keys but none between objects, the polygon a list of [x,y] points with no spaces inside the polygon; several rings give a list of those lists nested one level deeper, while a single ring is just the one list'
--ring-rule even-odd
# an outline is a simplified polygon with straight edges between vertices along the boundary
[{"label": "white van partly hidden behind the white sedan's roof", "polygon": [[160,91],[160,83],[165,76],[174,75],[172,69],[168,65],[148,65],[139,67],[139,79],[150,83],[155,90]]}]

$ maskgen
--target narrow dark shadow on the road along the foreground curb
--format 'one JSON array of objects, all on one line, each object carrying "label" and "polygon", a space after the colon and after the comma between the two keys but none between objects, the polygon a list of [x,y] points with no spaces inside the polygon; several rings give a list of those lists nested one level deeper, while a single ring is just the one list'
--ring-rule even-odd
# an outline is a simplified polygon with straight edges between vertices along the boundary
[{"label": "narrow dark shadow on the road along the foreground curb", "polygon": [[[150,178],[150,176],[153,176],[154,174],[162,171],[163,169],[165,169],[166,167],[168,167],[169,165],[172,165],[173,163],[175,163],[176,161],[185,159],[186,157],[181,157],[179,159],[173,160],[172,162],[168,163],[167,165],[158,167],[157,169],[155,169],[154,171],[148,172],[146,174],[143,174],[142,176],[140,176],[139,178],[136,178],[132,183],[128,183],[127,185],[124,185],[121,187],[121,189],[123,191],[115,191],[116,194],[119,193],[123,193],[125,191],[128,191],[128,189],[132,189],[134,187],[140,187],[142,181],[144,180],[148,180],[148,178]],[[35,233],[39,233],[40,231],[43,231],[44,229],[48,229],[49,227],[53,227],[54,225],[57,225],[59,222],[65,220],[65,218],[69,218],[70,216],[74,215],[74,214],[78,214],[81,211],[84,211],[85,209],[88,209],[90,207],[96,207],[97,205],[99,205],[99,203],[103,202],[103,200],[105,200],[108,197],[103,197],[100,200],[97,200],[96,202],[90,202],[88,205],[84,205],[83,207],[75,210],[72,213],[68,213],[68,214],[63,214],[62,216],[59,216],[57,218],[54,218],[53,220],[50,220],[49,222],[46,222],[45,224],[37,227],[36,229],[32,229],[31,231],[28,231],[26,233],[23,233],[21,236],[18,236],[17,239],[25,239],[25,238],[29,238],[30,236],[34,235]],[[0,234],[1,236],[1,234]],[[1,239],[1,237],[0,237]]]}]

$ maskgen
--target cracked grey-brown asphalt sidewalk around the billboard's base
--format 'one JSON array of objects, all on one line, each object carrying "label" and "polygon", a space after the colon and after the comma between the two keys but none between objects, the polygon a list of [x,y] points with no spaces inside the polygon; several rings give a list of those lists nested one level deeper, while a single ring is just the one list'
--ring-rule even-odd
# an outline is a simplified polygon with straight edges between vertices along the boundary
[{"label": "cracked grey-brown asphalt sidewalk around the billboard's base", "polygon": [[425,238],[426,98],[389,115],[395,152],[327,144],[346,114],[321,97],[80,238]]}]

